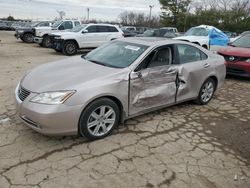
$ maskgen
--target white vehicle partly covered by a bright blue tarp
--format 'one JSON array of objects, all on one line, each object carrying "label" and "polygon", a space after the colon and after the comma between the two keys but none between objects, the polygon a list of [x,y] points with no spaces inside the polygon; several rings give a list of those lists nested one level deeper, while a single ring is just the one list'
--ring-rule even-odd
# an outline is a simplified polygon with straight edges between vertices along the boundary
[{"label": "white vehicle partly covered by a bright blue tarp", "polygon": [[184,36],[174,39],[191,42],[205,49],[211,49],[211,45],[226,46],[229,42],[229,38],[226,34],[209,25],[193,27],[189,29]]}]

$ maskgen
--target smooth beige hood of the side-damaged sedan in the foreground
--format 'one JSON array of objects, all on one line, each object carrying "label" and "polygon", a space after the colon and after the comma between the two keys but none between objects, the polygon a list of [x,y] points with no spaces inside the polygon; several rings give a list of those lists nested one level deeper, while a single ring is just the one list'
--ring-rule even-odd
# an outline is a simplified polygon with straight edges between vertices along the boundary
[{"label": "smooth beige hood of the side-damaged sedan in the foreground", "polygon": [[76,56],[33,69],[23,78],[21,86],[35,93],[77,90],[83,84],[102,82],[122,70],[98,65]]}]

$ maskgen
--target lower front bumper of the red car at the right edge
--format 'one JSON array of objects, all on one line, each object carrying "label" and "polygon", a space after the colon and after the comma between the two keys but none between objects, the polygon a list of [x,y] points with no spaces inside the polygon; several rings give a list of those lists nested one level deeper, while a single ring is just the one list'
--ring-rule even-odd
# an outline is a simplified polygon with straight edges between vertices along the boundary
[{"label": "lower front bumper of the red car at the right edge", "polygon": [[250,77],[250,63],[226,62],[227,75]]}]

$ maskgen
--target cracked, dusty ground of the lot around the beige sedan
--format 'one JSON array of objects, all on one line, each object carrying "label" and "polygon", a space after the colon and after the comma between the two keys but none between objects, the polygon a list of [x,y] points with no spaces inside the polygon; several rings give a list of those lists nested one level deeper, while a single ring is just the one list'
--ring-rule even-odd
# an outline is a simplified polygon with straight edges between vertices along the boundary
[{"label": "cracked, dusty ground of the lot around the beige sedan", "polygon": [[16,116],[14,88],[65,58],[0,31],[0,188],[250,187],[250,80],[228,78],[207,106],[185,103],[129,120],[103,140],[52,138]]}]

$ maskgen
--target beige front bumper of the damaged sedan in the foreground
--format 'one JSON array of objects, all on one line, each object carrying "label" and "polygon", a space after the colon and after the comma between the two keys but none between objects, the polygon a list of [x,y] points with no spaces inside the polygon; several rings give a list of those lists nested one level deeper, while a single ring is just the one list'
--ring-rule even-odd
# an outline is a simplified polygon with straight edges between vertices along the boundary
[{"label": "beige front bumper of the damaged sedan in the foreground", "polygon": [[15,90],[16,110],[22,121],[30,128],[44,135],[77,135],[81,106],[44,105],[30,102],[36,94],[31,93],[24,101]]}]

